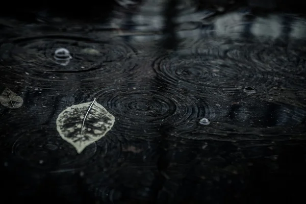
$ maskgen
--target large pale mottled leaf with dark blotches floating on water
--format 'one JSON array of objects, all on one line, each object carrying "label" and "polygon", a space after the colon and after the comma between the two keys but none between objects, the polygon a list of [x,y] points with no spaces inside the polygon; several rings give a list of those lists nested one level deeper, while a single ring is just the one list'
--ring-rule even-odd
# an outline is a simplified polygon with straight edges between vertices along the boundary
[{"label": "large pale mottled leaf with dark blotches floating on water", "polygon": [[56,120],[57,131],[80,154],[85,147],[101,139],[111,130],[115,117],[95,99],[65,109]]}]

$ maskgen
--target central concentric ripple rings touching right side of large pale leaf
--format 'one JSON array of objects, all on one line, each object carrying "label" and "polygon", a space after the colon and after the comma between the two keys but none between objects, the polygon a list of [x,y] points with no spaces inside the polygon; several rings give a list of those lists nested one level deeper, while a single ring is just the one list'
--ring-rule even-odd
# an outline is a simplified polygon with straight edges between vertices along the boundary
[{"label": "central concentric ripple rings touching right side of large pale leaf", "polygon": [[169,126],[188,123],[206,111],[195,98],[147,82],[101,89],[95,97],[116,117],[112,131],[132,137],[160,136]]}]

